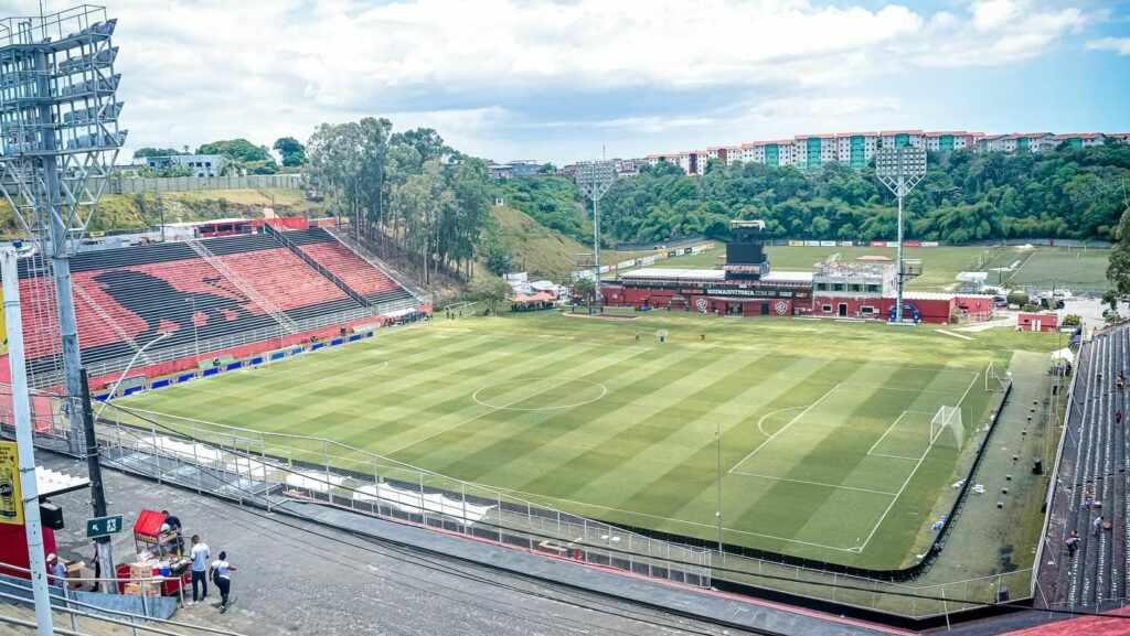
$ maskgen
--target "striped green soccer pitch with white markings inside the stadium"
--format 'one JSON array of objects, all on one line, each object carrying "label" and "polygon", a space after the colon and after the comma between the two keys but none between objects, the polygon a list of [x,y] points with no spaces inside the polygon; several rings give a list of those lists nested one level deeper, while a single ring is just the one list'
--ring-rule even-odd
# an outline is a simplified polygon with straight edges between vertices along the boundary
[{"label": "striped green soccer pitch with white markings inside the stadium", "polygon": [[[710,540],[721,476],[725,542],[894,568],[951,502],[959,446],[970,451],[993,395],[986,365],[1054,342],[971,336],[659,312],[437,320],[120,403],[331,438]],[[940,407],[958,407],[963,427],[932,426]]]}]

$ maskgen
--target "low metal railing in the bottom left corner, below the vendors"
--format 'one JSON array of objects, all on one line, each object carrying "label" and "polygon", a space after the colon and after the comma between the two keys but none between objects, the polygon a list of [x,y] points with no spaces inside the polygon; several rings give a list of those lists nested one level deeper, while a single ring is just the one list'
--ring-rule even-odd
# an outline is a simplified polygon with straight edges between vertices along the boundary
[{"label": "low metal railing in the bottom left corner, below the vendors", "polygon": [[[26,567],[10,565],[10,564],[6,564],[6,563],[0,563],[0,574],[9,574],[10,575],[11,573],[16,573],[17,575],[31,575],[32,570],[28,569],[28,568],[26,568]],[[51,574],[49,574],[46,576],[47,576],[47,581],[49,582],[54,583],[51,586],[51,592],[52,592],[52,595],[51,595],[52,596],[51,598],[52,607],[51,607],[51,609],[53,611],[64,612],[64,613],[68,615],[69,620],[70,620],[70,625],[71,625],[71,630],[76,630],[77,631],[77,629],[78,629],[78,625],[77,625],[78,618],[79,617],[85,617],[85,618],[89,618],[89,619],[93,619],[93,620],[98,620],[98,621],[103,621],[103,622],[108,622],[108,624],[113,624],[113,625],[118,625],[118,626],[128,627],[128,628],[132,629],[132,633],[134,635],[137,635],[139,631],[141,631],[141,633],[147,633],[147,634],[162,634],[162,635],[169,634],[169,635],[173,635],[173,636],[181,636],[181,633],[167,631],[165,629],[162,629],[160,627],[154,627],[151,625],[146,625],[146,622],[150,622],[150,624],[155,624],[157,626],[184,628],[184,629],[191,630],[192,633],[219,634],[219,635],[223,635],[223,636],[241,636],[240,634],[237,634],[235,631],[229,631],[229,630],[226,630],[226,629],[216,629],[214,627],[205,627],[205,626],[200,626],[200,625],[189,625],[186,622],[180,622],[180,621],[175,621],[175,620],[168,620],[168,619],[162,619],[162,618],[156,618],[156,617],[153,617],[153,616],[148,616],[148,611],[149,610],[148,610],[147,599],[156,598],[156,596],[153,595],[153,594],[147,594],[146,593],[146,590],[148,587],[147,585],[140,585],[139,586],[139,591],[141,592],[141,594],[138,598],[141,599],[141,608],[142,608],[142,612],[145,612],[145,613],[142,613],[140,616],[136,615],[136,613],[128,612],[128,611],[104,608],[102,605],[97,605],[97,604],[93,604],[93,603],[87,603],[87,602],[79,601],[77,599],[72,599],[71,594],[70,594],[70,590],[68,589],[68,584],[69,583],[87,583],[87,582],[89,582],[89,583],[96,583],[96,584],[98,584],[101,586],[101,585],[116,585],[118,583],[138,583],[139,581],[151,581],[151,580],[120,578],[120,577],[113,577],[113,576],[101,576],[101,577],[75,577],[75,576],[68,576],[68,577],[58,577],[58,576],[53,576]],[[63,583],[63,584],[62,585],[58,585],[58,583],[60,583],[60,582]],[[19,583],[15,583],[14,581],[8,581],[8,580],[5,580],[5,578],[0,578],[0,600],[5,600],[5,601],[8,601],[8,602],[12,602],[12,603],[19,603],[19,604],[31,604],[32,603],[32,599],[29,599],[27,596],[21,596],[19,594],[14,594],[11,592],[12,590],[31,593],[31,585],[28,584],[28,585],[25,586],[25,585],[20,585]],[[96,613],[92,613],[92,612],[96,612]],[[106,616],[98,616],[98,615],[106,615]],[[114,617],[122,617],[122,618],[119,619],[119,618],[114,618]],[[141,621],[141,622],[139,622],[139,621]]]}]

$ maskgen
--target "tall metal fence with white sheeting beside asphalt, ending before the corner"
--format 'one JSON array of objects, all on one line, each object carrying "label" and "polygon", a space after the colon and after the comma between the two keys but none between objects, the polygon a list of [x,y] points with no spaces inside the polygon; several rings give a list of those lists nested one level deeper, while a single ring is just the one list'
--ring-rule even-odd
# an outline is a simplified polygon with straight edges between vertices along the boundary
[{"label": "tall metal fence with white sheeting beside asphalt, ending before the corner", "polygon": [[268,509],[318,502],[507,547],[709,586],[709,550],[533,504],[332,439],[127,410],[96,428],[104,464]]}]

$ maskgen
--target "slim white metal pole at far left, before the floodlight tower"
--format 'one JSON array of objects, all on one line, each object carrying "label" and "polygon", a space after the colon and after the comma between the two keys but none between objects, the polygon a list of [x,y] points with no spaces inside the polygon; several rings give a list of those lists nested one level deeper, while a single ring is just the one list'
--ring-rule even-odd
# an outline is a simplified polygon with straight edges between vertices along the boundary
[{"label": "slim white metal pole at far left, before the floodlight tower", "polygon": [[43,555],[43,526],[40,522],[40,495],[35,482],[35,453],[32,448],[32,403],[27,393],[27,363],[24,359],[24,319],[19,308],[19,269],[11,247],[0,250],[0,278],[3,280],[5,324],[8,325],[8,366],[11,371],[12,411],[16,417],[16,452],[19,456],[19,488],[24,505],[24,530],[32,570],[35,624],[40,636],[54,634],[51,618],[51,592],[47,564]]}]

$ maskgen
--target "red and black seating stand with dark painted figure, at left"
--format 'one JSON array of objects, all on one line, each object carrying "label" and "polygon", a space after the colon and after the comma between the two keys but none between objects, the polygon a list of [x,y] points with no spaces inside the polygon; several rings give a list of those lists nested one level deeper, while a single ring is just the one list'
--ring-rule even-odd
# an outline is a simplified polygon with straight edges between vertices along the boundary
[{"label": "red and black seating stand with dark painted figure, at left", "polygon": [[[349,249],[324,230],[286,234],[298,235],[304,247],[332,242],[337,250],[301,256],[289,236],[253,234],[76,255],[71,280],[84,363],[103,373],[120,369],[164,332],[172,336],[142,361],[162,350],[180,348],[191,356],[201,342],[244,345],[416,306],[411,293],[356,254],[349,259]],[[60,367],[60,351],[58,316],[36,305],[37,298],[53,297],[44,269],[37,258],[20,261],[28,367],[46,375]],[[338,276],[360,290],[345,287]]]}]

